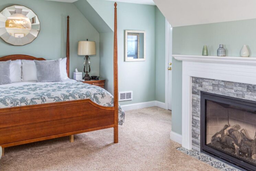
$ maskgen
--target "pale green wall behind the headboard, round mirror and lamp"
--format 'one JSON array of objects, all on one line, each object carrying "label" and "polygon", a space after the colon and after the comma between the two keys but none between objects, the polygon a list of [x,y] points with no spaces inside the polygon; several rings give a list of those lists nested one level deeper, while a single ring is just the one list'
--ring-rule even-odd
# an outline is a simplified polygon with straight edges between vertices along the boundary
[{"label": "pale green wall behind the headboard, round mirror and lamp", "polygon": [[45,0],[1,0],[0,10],[14,4],[32,9],[40,19],[38,37],[22,47],[13,46],[0,39],[0,56],[26,54],[48,60],[66,56],[66,18],[70,16],[70,76],[75,68],[83,70],[84,57],[77,55],[79,40],[92,40],[97,44],[97,55],[91,57],[91,75],[99,75],[99,33],[73,3]]}]

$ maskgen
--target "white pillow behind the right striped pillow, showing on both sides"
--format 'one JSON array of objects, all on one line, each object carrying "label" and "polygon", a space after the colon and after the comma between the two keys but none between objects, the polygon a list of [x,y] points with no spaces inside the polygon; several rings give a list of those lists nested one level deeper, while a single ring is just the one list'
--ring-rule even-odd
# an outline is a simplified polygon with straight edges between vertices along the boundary
[{"label": "white pillow behind the right striped pillow, showing on both sides", "polygon": [[[59,58],[60,77],[62,81],[68,79],[67,75],[67,58]],[[50,60],[55,61],[55,60]],[[23,81],[37,81],[35,62],[31,60],[21,60],[22,62],[22,79]]]}]

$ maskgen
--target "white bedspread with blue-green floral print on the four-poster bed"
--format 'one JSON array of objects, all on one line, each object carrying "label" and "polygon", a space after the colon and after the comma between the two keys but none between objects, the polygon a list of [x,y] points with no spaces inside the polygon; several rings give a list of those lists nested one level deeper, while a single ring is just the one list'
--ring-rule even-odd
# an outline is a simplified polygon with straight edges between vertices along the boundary
[{"label": "white bedspread with blue-green floral print on the four-poster bed", "polygon": [[[0,86],[0,108],[82,99],[90,99],[106,107],[114,105],[114,98],[108,91],[75,80],[53,83],[24,82]],[[120,125],[124,122],[124,115],[119,106]]]}]

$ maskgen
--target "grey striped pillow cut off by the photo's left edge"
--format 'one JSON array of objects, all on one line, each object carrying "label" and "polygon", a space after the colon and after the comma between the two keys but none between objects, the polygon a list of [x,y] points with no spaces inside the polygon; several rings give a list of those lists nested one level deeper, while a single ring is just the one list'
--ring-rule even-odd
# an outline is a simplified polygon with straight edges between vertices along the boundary
[{"label": "grey striped pillow cut off by the photo's left edge", "polygon": [[10,61],[0,62],[0,85],[12,83],[10,79]]}]

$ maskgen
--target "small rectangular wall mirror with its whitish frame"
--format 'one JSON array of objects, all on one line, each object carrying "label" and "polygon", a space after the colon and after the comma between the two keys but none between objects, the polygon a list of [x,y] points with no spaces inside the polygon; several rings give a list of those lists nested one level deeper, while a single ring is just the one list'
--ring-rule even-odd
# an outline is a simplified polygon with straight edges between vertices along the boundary
[{"label": "small rectangular wall mirror with its whitish frame", "polygon": [[125,30],[125,61],[146,60],[146,31]]}]

